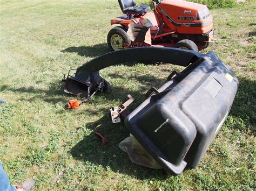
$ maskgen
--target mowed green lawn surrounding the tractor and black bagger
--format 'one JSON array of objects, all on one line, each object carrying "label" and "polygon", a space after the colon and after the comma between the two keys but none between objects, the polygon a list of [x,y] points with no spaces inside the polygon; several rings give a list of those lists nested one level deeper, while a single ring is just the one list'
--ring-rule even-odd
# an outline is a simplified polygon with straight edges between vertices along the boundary
[{"label": "mowed green lawn surrounding the tractor and black bagger", "polygon": [[[42,189],[253,189],[255,133],[255,1],[211,10],[213,50],[239,79],[230,115],[196,169],[180,176],[131,164],[118,143],[129,136],[107,116],[127,94],[144,100],[171,65],[113,66],[101,75],[111,85],[79,110],[66,110],[63,74],[109,51],[117,1],[1,1],[0,160],[11,183],[26,178]],[[102,147],[93,131],[110,142]]]}]

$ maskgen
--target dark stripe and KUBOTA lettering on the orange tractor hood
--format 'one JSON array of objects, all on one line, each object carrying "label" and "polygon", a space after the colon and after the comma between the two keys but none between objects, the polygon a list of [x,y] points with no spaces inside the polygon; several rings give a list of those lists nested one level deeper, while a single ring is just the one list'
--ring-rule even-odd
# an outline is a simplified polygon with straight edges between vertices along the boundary
[{"label": "dark stripe and KUBOTA lettering on the orange tractor hood", "polygon": [[[170,20],[170,22],[174,25],[174,26],[188,26],[188,27],[202,27],[202,26],[207,26],[209,25],[210,23],[212,23],[212,20],[208,20],[207,22],[204,22],[204,23],[176,23],[174,22],[174,20],[169,16],[167,15],[167,13],[162,9],[160,8],[161,12],[163,12],[164,16]],[[180,19],[179,19],[180,18]],[[185,18],[185,19],[184,19]],[[194,17],[178,17],[179,20],[195,20]]]}]

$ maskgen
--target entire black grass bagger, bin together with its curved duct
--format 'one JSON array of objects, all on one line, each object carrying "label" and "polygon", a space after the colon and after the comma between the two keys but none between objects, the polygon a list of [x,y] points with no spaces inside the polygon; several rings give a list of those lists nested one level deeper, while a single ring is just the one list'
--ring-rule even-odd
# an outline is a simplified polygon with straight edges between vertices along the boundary
[{"label": "entire black grass bagger, bin together with its curved duct", "polygon": [[[132,55],[132,56],[131,56]],[[130,61],[156,61],[186,67],[172,72],[158,90],[125,117],[125,126],[147,152],[172,174],[195,168],[212,143],[238,88],[238,79],[213,52],[138,47],[107,53],[65,79],[65,92],[90,96],[109,89],[99,70]],[[122,114],[120,114],[122,116]]]}]

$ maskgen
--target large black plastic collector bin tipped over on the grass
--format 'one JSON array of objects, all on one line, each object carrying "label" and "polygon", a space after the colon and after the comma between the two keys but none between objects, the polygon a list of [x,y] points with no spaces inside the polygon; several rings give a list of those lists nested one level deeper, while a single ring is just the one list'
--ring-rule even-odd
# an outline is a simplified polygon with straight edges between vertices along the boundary
[{"label": "large black plastic collector bin tipped over on the grass", "polygon": [[223,125],[238,79],[213,52],[167,81],[125,125],[167,172],[195,168]]}]

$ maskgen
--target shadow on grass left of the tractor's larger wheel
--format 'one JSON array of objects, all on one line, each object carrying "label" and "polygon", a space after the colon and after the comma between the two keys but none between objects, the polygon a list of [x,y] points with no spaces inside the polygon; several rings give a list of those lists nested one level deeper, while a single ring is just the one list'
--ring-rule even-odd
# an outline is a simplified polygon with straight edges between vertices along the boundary
[{"label": "shadow on grass left of the tractor's larger wheel", "polygon": [[94,46],[78,46],[78,47],[69,47],[66,49],[63,49],[60,52],[75,52],[80,56],[86,56],[86,57],[96,57],[100,56],[102,54],[105,54],[109,52],[109,48],[107,47],[106,43],[98,44]]}]

